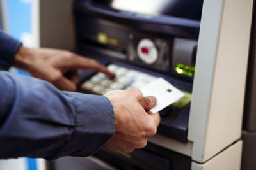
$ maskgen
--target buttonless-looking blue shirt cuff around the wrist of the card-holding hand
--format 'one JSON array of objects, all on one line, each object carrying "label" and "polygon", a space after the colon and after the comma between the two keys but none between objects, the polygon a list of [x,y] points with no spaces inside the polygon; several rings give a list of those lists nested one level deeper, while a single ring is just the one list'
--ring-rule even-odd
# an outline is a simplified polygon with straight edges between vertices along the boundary
[{"label": "buttonless-looking blue shirt cuff around the wrist of the card-holding hand", "polygon": [[[72,92],[65,92],[67,95],[69,93]],[[91,94],[76,93],[74,102],[76,127],[70,140],[61,147],[61,150],[74,148],[68,155],[76,157],[92,155],[115,133],[113,106],[108,97]]]}]

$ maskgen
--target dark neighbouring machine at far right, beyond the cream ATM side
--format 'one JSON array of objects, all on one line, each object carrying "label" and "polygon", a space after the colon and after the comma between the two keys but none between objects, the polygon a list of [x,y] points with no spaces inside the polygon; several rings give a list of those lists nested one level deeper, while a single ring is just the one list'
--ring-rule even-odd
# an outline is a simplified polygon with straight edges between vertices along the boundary
[{"label": "dark neighbouring machine at far right, beyond the cream ATM side", "polygon": [[251,34],[250,55],[248,60],[248,73],[246,81],[246,96],[244,101],[243,120],[243,152],[242,170],[253,170],[256,167],[256,13],[255,5],[253,10],[253,23]]}]

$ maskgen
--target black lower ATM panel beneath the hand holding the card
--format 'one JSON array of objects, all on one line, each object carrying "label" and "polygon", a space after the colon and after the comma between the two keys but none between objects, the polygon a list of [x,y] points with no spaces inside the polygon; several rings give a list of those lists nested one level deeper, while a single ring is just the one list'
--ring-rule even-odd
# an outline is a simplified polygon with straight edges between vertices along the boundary
[{"label": "black lower ATM panel beneath the hand holding the card", "polygon": [[100,150],[95,157],[104,160],[117,169],[124,170],[189,170],[191,158],[148,143],[143,150],[132,153]]}]

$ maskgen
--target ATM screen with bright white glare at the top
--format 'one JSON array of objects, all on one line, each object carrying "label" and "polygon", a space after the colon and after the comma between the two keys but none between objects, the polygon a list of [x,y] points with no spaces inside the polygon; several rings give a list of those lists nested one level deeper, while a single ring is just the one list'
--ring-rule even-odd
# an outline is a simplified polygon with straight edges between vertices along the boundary
[{"label": "ATM screen with bright white glare at the top", "polygon": [[200,20],[204,0],[92,0],[116,10]]}]

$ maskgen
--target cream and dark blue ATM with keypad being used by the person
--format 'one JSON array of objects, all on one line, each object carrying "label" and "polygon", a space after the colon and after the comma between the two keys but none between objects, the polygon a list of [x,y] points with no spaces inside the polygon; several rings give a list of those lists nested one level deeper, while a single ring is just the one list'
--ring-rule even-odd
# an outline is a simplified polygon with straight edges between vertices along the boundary
[{"label": "cream and dark blue ATM with keypad being used by the person", "polygon": [[145,148],[101,149],[90,159],[58,159],[49,169],[91,169],[90,161],[102,169],[240,169],[252,11],[253,0],[33,1],[35,45],[74,50],[125,77],[113,82],[82,72],[81,92],[104,94],[163,77],[185,94],[160,111]]}]

